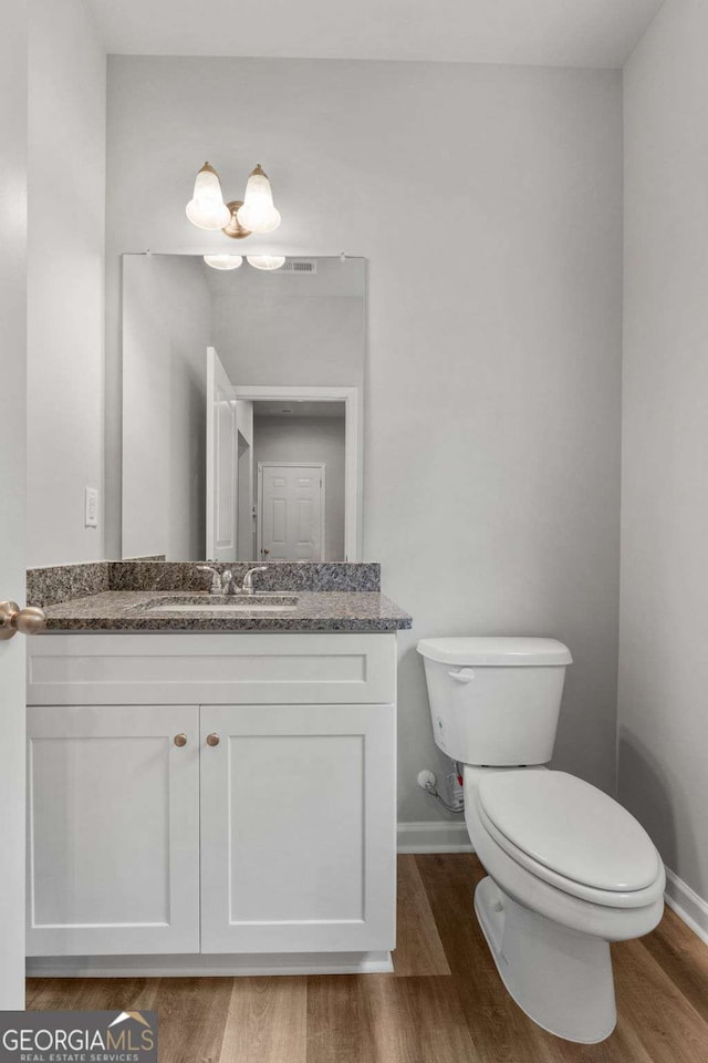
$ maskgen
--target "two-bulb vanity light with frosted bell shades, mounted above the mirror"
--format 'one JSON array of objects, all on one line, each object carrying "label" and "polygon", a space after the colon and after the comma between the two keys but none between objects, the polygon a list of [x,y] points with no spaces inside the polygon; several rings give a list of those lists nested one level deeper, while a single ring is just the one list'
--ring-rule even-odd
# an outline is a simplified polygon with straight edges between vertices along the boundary
[{"label": "two-bulb vanity light with frosted bell shades, mounted above the mirror", "polygon": [[187,204],[187,217],[199,229],[221,229],[233,240],[251,233],[273,233],[280,225],[280,211],[273,204],[273,192],[260,163],[251,172],[243,199],[223,202],[219,175],[205,163],[195,180],[194,196]]}]

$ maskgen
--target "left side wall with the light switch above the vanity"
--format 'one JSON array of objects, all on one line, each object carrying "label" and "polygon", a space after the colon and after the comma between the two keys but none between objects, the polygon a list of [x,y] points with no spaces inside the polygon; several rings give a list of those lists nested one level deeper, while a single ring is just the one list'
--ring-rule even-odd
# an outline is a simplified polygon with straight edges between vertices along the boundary
[{"label": "left side wall with the light switch above the vanity", "polygon": [[28,564],[54,565],[105,556],[106,60],[83,0],[29,14]]}]

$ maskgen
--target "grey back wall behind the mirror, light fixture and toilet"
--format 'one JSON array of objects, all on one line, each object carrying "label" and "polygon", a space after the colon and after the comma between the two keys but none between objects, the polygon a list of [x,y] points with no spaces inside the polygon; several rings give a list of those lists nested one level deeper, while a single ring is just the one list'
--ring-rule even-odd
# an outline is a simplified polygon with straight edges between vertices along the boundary
[{"label": "grey back wall behind the mirror, light fixture and toilet", "polygon": [[[207,157],[227,197],[256,162],[273,182],[283,224],[251,248],[369,260],[364,553],[415,618],[400,818],[439,815],[415,783],[437,764],[415,653],[430,634],[566,641],[558,764],[612,791],[620,72],[112,58],[110,393],[117,255],[232,249],[185,218]],[[118,430],[107,410],[110,446]]]}]

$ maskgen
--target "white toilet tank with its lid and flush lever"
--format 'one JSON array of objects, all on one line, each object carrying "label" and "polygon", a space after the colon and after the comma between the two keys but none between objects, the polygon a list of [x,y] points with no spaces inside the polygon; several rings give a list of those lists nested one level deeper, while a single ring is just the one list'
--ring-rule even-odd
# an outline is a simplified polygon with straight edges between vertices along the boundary
[{"label": "white toilet tank with its lid and flush lever", "polygon": [[546,764],[570,650],[555,639],[423,639],[436,745],[462,764]]}]

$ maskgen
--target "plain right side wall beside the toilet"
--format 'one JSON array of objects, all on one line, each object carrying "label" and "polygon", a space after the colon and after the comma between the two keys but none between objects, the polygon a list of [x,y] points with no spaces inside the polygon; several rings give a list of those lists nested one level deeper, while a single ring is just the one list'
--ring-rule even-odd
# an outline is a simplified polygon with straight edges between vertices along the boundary
[{"label": "plain right side wall beside the toilet", "polygon": [[620,796],[708,899],[706,41],[667,0],[625,72]]}]

